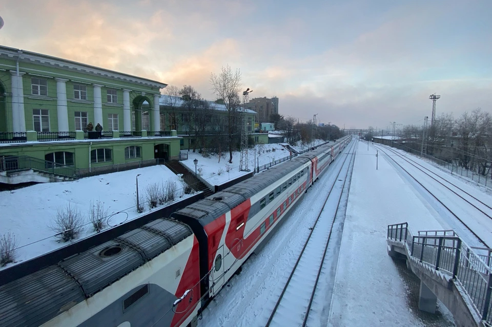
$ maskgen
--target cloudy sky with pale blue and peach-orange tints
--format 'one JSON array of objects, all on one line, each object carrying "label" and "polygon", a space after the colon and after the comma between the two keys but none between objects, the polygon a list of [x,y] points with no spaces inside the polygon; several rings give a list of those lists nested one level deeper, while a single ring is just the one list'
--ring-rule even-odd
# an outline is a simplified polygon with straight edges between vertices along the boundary
[{"label": "cloudy sky with pale blue and peach-orange tints", "polygon": [[[489,0],[0,0],[0,44],[215,99],[229,64],[279,113],[386,129],[492,102]],[[161,90],[165,93],[165,90]]]}]

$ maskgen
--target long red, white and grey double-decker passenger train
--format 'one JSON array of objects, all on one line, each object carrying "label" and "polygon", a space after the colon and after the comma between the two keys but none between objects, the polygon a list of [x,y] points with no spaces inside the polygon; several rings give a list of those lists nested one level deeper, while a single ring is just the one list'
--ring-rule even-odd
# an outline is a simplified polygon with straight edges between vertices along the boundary
[{"label": "long red, white and grey double-decker passenger train", "polygon": [[0,325],[196,326],[199,312],[350,141],[312,149],[0,286]]}]

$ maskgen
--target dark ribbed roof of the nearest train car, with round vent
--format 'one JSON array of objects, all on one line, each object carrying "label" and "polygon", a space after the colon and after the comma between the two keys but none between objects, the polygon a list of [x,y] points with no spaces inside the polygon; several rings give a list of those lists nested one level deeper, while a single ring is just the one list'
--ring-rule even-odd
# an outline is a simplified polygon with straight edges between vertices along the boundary
[{"label": "dark ribbed roof of the nearest train car, with round vent", "polygon": [[0,287],[1,326],[39,326],[190,236],[158,219]]}]

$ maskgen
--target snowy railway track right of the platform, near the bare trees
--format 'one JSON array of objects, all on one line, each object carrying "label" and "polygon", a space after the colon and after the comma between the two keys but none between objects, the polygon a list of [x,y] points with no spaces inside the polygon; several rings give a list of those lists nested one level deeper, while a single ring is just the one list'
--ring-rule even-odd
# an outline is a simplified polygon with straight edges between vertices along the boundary
[{"label": "snowy railway track right of the platform, near the bare trees", "polygon": [[[410,160],[410,161],[407,161],[406,160],[406,157],[405,156],[402,156],[400,155],[398,152],[394,151],[393,149],[388,149],[386,147],[381,147],[381,146],[375,146],[375,145],[371,145],[373,148],[375,149],[378,149],[380,151],[382,151],[388,158],[390,158],[395,164],[397,164],[403,171],[405,171],[408,176],[412,177],[412,179],[415,180],[415,182],[417,182],[420,186],[422,186],[430,195],[432,195],[432,197],[434,199],[436,199],[444,208],[446,208],[454,217],[456,217],[456,219],[467,229],[469,230],[477,239],[478,241],[480,241],[480,243],[482,243],[486,248],[489,248],[489,246],[487,245],[487,243],[472,229],[470,228],[459,216],[458,214],[456,214],[452,209],[449,208],[449,206],[445,205],[443,203],[443,201],[441,201],[441,199],[439,199],[432,191],[430,191],[427,187],[425,187],[415,176],[412,175],[412,173],[410,173],[407,169],[405,169],[398,161],[396,161],[394,158],[392,158],[392,156],[389,156],[388,153],[385,151],[385,150],[388,150],[388,151],[391,151],[391,153],[394,153],[396,154],[399,158],[402,158],[403,160],[405,160],[406,162],[408,162],[409,164],[411,164],[413,167],[419,169],[420,171],[424,172],[428,177],[430,177],[431,179],[435,180],[436,182],[438,182],[439,184],[441,184],[442,186],[444,186],[445,189],[448,189],[450,192],[452,192],[453,194],[457,195],[459,198],[463,199],[465,202],[467,202],[470,206],[474,207],[475,209],[477,209],[478,211],[480,211],[484,216],[486,216],[488,219],[492,220],[492,213],[488,213],[488,210],[492,209],[491,207],[489,207],[487,204],[483,203],[481,200],[475,198],[473,195],[469,194],[468,192],[466,192],[465,190],[461,189],[460,187],[454,185],[453,183],[451,182],[448,182],[446,180],[444,180],[442,177],[440,177],[439,175],[437,175],[436,173],[434,173],[436,176],[438,176],[440,179],[444,180],[448,185],[451,185],[451,187],[449,187],[448,185],[445,185],[444,183],[442,183],[441,181],[437,180],[435,177],[429,175],[429,173],[425,172],[423,169],[421,169],[420,167],[418,167],[418,164],[414,164],[412,163],[413,160]],[[420,165],[421,166],[421,165]],[[427,169],[428,170],[428,169]],[[429,170],[430,171],[430,170]],[[431,171],[432,172],[432,171]],[[461,194],[458,194],[458,192],[456,190],[453,190],[452,187],[455,187],[456,189],[459,189],[461,190],[464,194],[461,195]],[[465,199],[466,197],[468,197],[468,199]],[[476,203],[474,203],[476,202]]]}]

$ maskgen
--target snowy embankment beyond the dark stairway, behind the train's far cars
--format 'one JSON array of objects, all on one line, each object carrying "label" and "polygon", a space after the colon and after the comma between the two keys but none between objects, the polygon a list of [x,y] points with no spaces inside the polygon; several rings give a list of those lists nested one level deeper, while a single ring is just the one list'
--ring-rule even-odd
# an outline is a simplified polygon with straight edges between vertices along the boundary
[{"label": "snowy embankment beyond the dark stairway, behind the train's far cars", "polygon": [[[323,143],[323,140],[315,140],[311,143],[311,146],[319,145]],[[332,142],[333,143],[333,142]],[[290,156],[290,151],[282,146],[286,143],[274,143],[274,144],[257,144],[248,151],[248,169],[253,170],[254,167],[262,166],[274,162],[275,160],[283,159]],[[296,151],[305,150],[309,147],[309,144],[302,145],[300,142],[297,145],[292,146]],[[256,156],[255,156],[256,149]],[[181,161],[182,164],[188,167],[188,170],[195,172],[195,164],[193,161],[198,160],[196,165],[197,173],[200,175],[198,169],[202,169],[201,178],[207,181],[211,185],[220,185],[226,183],[229,180],[246,175],[249,172],[239,171],[240,162],[239,151],[232,152],[232,164],[229,163],[229,151],[224,151],[222,157],[218,155],[210,155],[208,158],[204,158],[198,152],[188,152],[188,160]],[[255,163],[256,158],[256,163]]]}]

